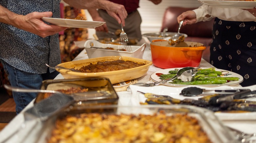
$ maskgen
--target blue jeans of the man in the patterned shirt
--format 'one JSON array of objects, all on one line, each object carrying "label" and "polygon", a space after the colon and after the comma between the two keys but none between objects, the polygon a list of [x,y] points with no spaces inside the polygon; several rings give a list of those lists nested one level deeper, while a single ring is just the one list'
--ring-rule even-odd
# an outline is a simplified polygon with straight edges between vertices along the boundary
[{"label": "blue jeans of the man in the patterned shirt", "polygon": [[[0,61],[8,74],[12,87],[40,89],[43,80],[53,79],[59,74],[58,71],[50,73],[49,69],[44,74],[29,73],[18,70],[1,59]],[[12,92],[12,96],[16,103],[16,113],[18,114],[37,96],[37,93]]]}]

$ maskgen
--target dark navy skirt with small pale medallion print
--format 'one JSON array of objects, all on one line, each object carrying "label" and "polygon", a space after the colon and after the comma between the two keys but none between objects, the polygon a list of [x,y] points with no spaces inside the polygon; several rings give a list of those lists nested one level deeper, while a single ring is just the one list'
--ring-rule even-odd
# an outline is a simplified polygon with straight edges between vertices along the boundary
[{"label": "dark navy skirt with small pale medallion print", "polygon": [[215,18],[210,63],[244,77],[241,86],[256,85],[256,22]]}]

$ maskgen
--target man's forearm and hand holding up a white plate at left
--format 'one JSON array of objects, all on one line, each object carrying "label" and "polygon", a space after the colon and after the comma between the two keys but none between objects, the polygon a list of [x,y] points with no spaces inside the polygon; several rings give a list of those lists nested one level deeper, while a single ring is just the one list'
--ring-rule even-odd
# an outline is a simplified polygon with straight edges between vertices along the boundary
[{"label": "man's forearm and hand holding up a white plate at left", "polygon": [[47,37],[67,29],[67,27],[45,24],[41,19],[52,15],[52,12],[32,12],[27,15],[19,15],[0,5],[1,23],[10,24],[41,37]]}]

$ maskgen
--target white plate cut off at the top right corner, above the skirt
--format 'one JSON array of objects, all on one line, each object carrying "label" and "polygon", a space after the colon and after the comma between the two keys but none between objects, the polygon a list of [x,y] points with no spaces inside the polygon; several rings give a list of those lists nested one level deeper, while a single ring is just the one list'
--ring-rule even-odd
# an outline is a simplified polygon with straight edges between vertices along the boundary
[{"label": "white plate cut off at the top right corner, above the skirt", "polygon": [[256,1],[225,1],[225,0],[198,0],[209,7],[252,9],[256,7]]}]

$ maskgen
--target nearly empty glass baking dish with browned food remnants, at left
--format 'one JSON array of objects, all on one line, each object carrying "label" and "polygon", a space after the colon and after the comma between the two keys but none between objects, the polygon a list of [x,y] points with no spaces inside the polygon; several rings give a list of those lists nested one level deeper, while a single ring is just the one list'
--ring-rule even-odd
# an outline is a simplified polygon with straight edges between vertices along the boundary
[{"label": "nearly empty glass baking dish with browned food remnants, at left", "polygon": [[[86,89],[78,90],[72,93],[75,96],[76,105],[88,104],[117,104],[118,96],[108,78],[78,78],[78,79],[60,79],[60,80],[44,80],[41,89],[67,91],[70,89]],[[88,91],[87,91],[88,90]],[[68,95],[71,95],[68,94]],[[34,103],[47,98],[49,95],[38,93]],[[82,100],[79,100],[79,98]]]}]

